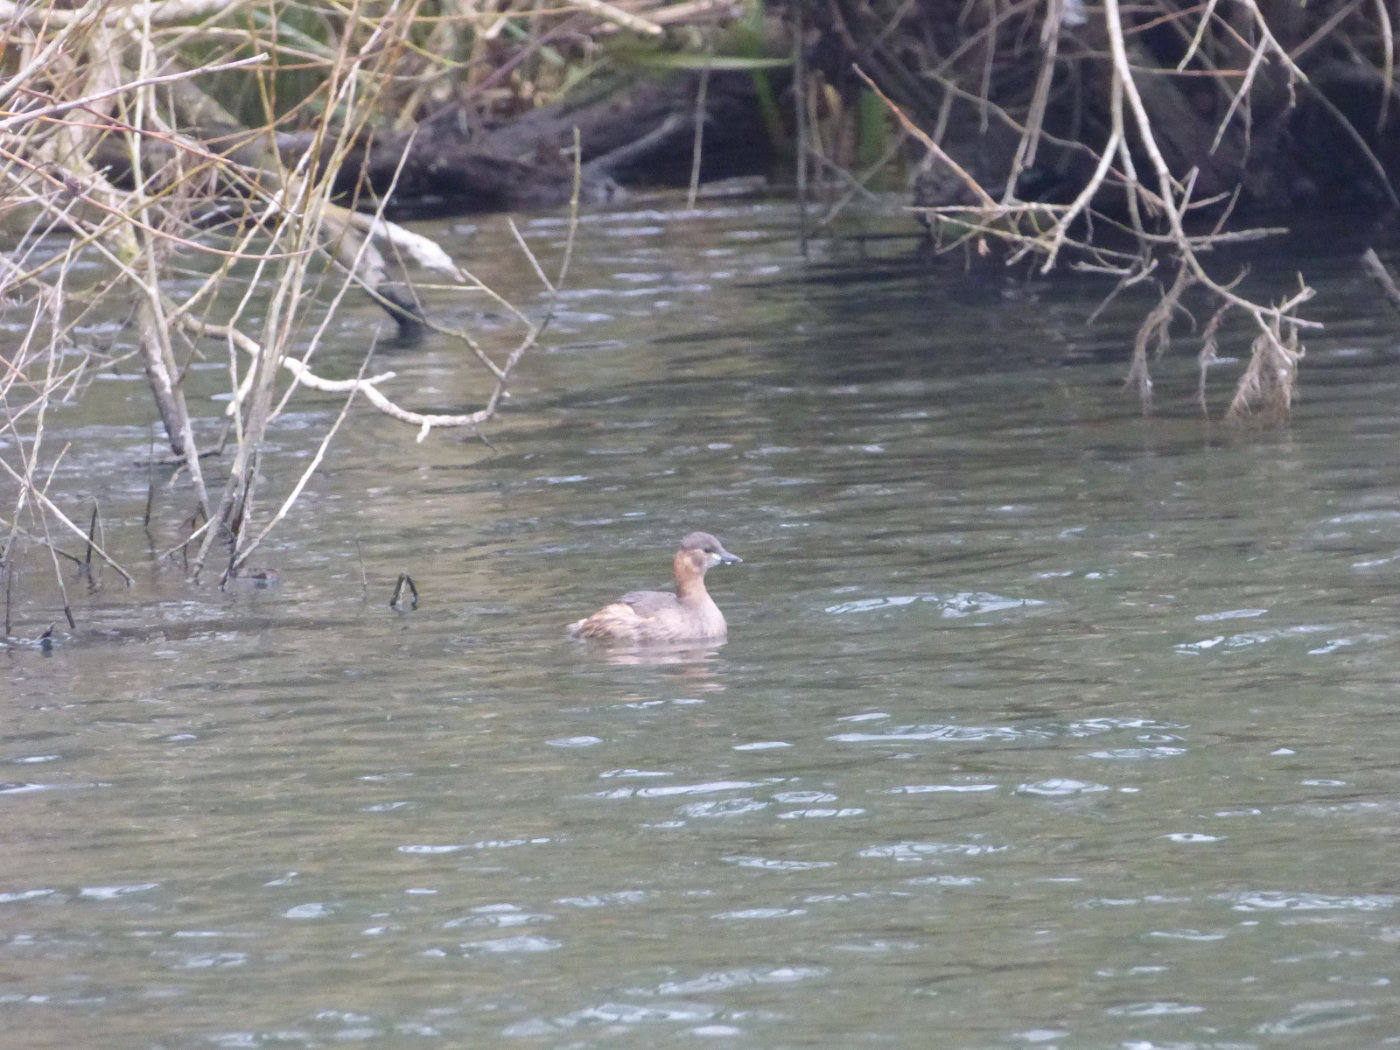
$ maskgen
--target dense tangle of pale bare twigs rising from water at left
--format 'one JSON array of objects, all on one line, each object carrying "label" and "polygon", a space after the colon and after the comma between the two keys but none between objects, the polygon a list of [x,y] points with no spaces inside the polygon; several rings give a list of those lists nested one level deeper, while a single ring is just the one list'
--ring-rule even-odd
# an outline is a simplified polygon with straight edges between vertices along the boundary
[{"label": "dense tangle of pale bare twigs rising from water at left", "polygon": [[[487,39],[484,15],[426,14],[421,0],[305,8],[88,0],[71,10],[0,1],[0,304],[27,322],[22,340],[0,349],[6,637],[27,543],[46,547],[56,570],[60,559],[106,563],[130,580],[95,533],[95,515],[73,521],[49,491],[63,451],[45,444],[45,419],[112,363],[76,335],[98,304],[130,304],[119,346],[144,367],[178,465],[172,484],[192,508],[188,535],[164,553],[179,553],[196,575],[210,563],[223,578],[238,573],[302,491],[351,400],[416,428],[419,440],[438,427],[479,427],[496,412],[547,315],[525,316],[433,241],[332,195],[351,144],[455,83],[454,52]],[[462,39],[445,41],[454,34]],[[531,262],[552,290],[567,253],[553,277]],[[410,270],[511,311],[514,342],[482,346],[428,322]],[[200,274],[193,290],[190,272]],[[322,374],[318,351],[347,295],[459,340],[480,368],[480,406],[410,412],[399,399],[412,392],[396,391],[393,372],[375,374],[370,354],[357,374]],[[186,398],[190,363],[210,357],[227,361],[221,421],[196,417]],[[277,479],[276,498],[259,498],[265,435],[307,389],[340,396],[344,409],[311,466],[294,482]]]}]

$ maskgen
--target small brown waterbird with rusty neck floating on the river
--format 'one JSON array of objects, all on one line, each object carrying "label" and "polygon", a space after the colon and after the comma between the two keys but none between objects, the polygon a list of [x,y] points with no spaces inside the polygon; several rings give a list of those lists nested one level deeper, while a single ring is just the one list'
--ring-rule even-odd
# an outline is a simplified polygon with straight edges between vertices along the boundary
[{"label": "small brown waterbird with rusty neck floating on the river", "polygon": [[708,532],[692,532],[680,540],[671,561],[676,592],[630,591],[592,616],[568,624],[575,638],[626,643],[704,641],[725,636],[724,613],[704,588],[707,568],[742,561]]}]

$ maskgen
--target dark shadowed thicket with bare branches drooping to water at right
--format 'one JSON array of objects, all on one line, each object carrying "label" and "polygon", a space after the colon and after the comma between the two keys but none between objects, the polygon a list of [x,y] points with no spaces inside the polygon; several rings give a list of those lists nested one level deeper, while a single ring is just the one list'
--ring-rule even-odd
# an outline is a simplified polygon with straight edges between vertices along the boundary
[{"label": "dark shadowed thicket with bare branches drooping to water at right", "polygon": [[[918,189],[946,241],[1012,262],[1155,281],[1130,379],[1184,315],[1205,368],[1229,315],[1254,339],[1231,419],[1287,413],[1310,322],[1302,277],[1267,300],[1219,273],[1214,248],[1277,230],[1239,204],[1313,206],[1365,189],[1394,206],[1392,6],[1382,0],[819,0],[790,11],[818,36],[823,78],[868,84],[925,154]],[[854,94],[843,92],[843,94]]]}]

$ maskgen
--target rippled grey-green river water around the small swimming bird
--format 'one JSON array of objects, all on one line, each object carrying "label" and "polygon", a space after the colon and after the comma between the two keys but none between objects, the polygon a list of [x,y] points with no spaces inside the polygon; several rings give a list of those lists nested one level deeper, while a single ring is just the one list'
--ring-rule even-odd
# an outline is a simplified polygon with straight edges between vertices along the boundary
[{"label": "rippled grey-green river water around the small swimming bird", "polygon": [[[1400,371],[1350,260],[1305,267],[1292,424],[1235,433],[1184,357],[1154,417],[1120,389],[1141,302],[804,270],[788,221],[592,220],[494,451],[358,412],[274,588],[150,561],[185,497],[147,542],[139,382],[50,419],[137,584],[4,657],[0,1044],[1400,1043]],[[535,294],[500,225],[469,252]],[[273,490],[337,410],[279,426]],[[728,644],[563,637],[692,528],[745,557]]]}]

